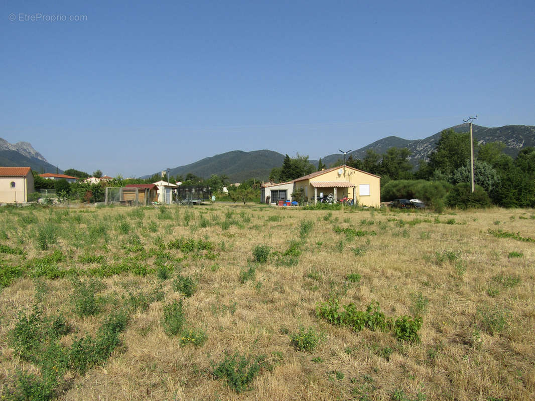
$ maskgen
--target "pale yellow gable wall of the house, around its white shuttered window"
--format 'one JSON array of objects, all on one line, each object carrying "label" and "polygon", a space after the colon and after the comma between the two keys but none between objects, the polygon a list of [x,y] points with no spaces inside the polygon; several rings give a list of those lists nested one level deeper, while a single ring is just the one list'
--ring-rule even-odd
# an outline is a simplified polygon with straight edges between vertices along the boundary
[{"label": "pale yellow gable wall of the house, around its white shuttered window", "polygon": [[[338,174],[339,170],[342,170],[341,174]],[[314,202],[314,187],[312,187],[310,183],[322,181],[349,181],[356,186],[355,195],[359,205],[374,207],[379,207],[380,205],[380,178],[360,172],[350,167],[346,167],[345,172],[344,168],[340,167],[339,169],[318,175],[309,180],[297,181],[295,183],[295,187],[304,189],[305,197],[308,199],[307,202]],[[359,186],[361,184],[367,184],[370,186],[369,196],[361,196],[361,194],[359,194]],[[331,193],[334,195],[333,188],[317,188],[318,196],[320,192],[323,192],[324,196]],[[337,188],[338,199],[341,199],[346,195],[349,195],[350,198],[353,198],[353,188]]]}]

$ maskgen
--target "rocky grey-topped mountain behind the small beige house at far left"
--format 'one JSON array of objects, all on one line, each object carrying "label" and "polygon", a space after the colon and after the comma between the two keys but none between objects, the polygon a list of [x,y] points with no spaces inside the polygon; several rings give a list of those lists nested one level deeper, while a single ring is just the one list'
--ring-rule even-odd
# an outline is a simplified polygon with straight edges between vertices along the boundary
[{"label": "rocky grey-topped mountain behind the small beige house at far left", "polygon": [[[0,166],[3,167],[32,167],[40,173],[56,173],[56,166],[48,163],[47,159],[37,152],[28,142],[9,143],[0,138]],[[59,173],[63,173],[59,170]]]}]

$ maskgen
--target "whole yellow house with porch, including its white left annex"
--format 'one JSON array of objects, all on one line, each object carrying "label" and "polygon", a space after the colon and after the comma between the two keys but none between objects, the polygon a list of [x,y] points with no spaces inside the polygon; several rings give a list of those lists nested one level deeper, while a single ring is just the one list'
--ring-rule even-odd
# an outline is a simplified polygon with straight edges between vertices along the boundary
[{"label": "whole yellow house with porch, including its white left annex", "polygon": [[276,200],[284,198],[291,201],[292,192],[301,188],[308,203],[324,201],[332,194],[335,200],[348,197],[363,206],[380,204],[380,177],[349,166],[316,171],[291,182],[264,184],[261,202],[277,203]]}]

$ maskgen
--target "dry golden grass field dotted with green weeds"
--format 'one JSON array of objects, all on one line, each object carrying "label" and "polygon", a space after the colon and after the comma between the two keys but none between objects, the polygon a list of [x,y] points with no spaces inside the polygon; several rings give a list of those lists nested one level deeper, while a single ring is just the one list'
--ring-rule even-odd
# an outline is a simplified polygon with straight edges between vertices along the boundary
[{"label": "dry golden grass field dotted with green weeds", "polygon": [[0,399],[535,399],[533,238],[533,210],[3,207]]}]

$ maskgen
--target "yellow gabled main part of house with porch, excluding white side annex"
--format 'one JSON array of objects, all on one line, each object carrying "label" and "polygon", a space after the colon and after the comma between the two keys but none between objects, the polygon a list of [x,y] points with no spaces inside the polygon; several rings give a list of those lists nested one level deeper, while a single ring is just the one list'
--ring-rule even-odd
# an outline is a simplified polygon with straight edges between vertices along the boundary
[{"label": "yellow gabled main part of house with porch, excluding white side annex", "polygon": [[333,194],[335,200],[348,197],[359,205],[379,207],[380,177],[349,166],[333,167],[294,180],[295,189],[303,188],[305,202],[317,203]]}]

